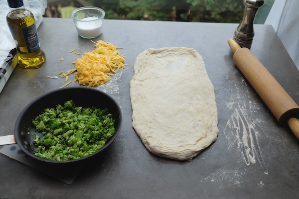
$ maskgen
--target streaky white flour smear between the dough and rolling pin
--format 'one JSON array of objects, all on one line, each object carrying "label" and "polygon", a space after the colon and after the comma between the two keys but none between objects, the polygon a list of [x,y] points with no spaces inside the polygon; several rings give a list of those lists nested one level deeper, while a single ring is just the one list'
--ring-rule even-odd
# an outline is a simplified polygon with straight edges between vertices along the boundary
[{"label": "streaky white flour smear between the dough and rolling pin", "polygon": [[[226,103],[227,108],[232,110],[230,119],[224,129],[225,137],[229,141],[228,149],[234,150],[235,146],[240,151],[241,157],[246,165],[259,163],[265,174],[268,174],[266,164],[260,152],[258,142],[259,132],[255,129],[255,121],[248,114],[258,109],[258,104],[250,99],[247,82],[241,78],[241,83],[246,86],[246,92],[241,95],[235,93],[231,101]],[[242,103],[234,102],[234,98]],[[256,119],[257,122],[260,122]]]}]

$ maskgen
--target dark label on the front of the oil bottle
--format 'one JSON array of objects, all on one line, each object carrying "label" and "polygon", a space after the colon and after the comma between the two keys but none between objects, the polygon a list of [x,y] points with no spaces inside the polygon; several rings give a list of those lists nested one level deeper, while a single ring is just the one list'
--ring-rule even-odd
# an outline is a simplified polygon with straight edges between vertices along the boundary
[{"label": "dark label on the front of the oil bottle", "polygon": [[22,28],[22,31],[27,45],[28,53],[32,53],[38,50],[39,41],[35,23],[28,27]]}]

